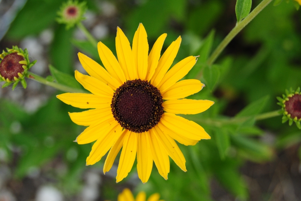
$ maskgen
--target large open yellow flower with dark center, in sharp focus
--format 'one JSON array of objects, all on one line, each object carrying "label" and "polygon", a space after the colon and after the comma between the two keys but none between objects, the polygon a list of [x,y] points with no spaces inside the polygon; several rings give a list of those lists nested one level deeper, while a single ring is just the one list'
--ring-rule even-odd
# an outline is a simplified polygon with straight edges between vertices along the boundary
[{"label": "large open yellow flower with dark center, in sharp focus", "polygon": [[135,32],[132,49],[118,27],[118,60],[107,46],[98,43],[98,53],[105,69],[78,53],[82,66],[90,76],[75,71],[75,78],[92,94],[57,95],[71,106],[96,108],[69,113],[76,124],[89,126],[75,142],[86,144],[96,141],[87,157],[87,165],[98,162],[110,150],[103,166],[103,173],[106,173],[123,147],[116,182],[128,175],[136,154],[138,176],[143,183],[150,177],[153,161],[160,175],[167,179],[168,156],[186,172],[185,158],[175,140],[184,145],[195,145],[201,139],[210,139],[197,123],[176,115],[198,114],[214,102],[184,99],[204,86],[199,80],[181,80],[197,58],[189,56],[168,70],[182,39],[178,37],[173,41],[160,58],[166,35],[162,34],[157,39],[148,55],[147,35],[142,23]]}]

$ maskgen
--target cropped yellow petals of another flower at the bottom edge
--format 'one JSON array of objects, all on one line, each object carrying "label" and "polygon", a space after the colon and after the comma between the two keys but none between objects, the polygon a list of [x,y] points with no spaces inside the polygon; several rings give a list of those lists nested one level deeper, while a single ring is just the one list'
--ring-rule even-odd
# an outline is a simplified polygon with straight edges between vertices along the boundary
[{"label": "cropped yellow petals of another flower at the bottom edge", "polygon": [[124,188],[124,190],[119,193],[117,201],[164,201],[159,199],[160,194],[154,193],[146,200],[146,194],[143,191],[139,192],[135,199],[130,189]]}]

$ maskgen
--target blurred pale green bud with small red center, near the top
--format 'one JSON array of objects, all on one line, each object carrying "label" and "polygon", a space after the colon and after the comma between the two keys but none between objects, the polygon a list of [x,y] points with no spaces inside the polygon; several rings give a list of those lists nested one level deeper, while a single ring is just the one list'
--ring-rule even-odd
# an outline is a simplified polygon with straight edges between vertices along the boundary
[{"label": "blurred pale green bud with small red center, near the top", "polygon": [[69,0],[63,3],[57,12],[59,17],[56,18],[56,21],[61,24],[66,24],[66,29],[72,28],[76,23],[85,19],[83,15],[86,10],[86,2],[78,3],[78,1]]}]

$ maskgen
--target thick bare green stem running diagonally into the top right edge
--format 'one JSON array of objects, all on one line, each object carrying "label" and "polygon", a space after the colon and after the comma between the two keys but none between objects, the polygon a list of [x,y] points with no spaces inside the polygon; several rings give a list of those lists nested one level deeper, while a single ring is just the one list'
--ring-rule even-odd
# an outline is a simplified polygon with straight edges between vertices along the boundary
[{"label": "thick bare green stem running diagonally into the top right edge", "polygon": [[225,49],[225,47],[230,43],[230,41],[262,11],[272,0],[263,0],[254,10],[242,21],[237,22],[236,26],[230,31],[230,33],[224,38],[224,40],[219,44],[219,46],[214,50],[209,59],[207,60],[208,65],[212,65],[214,61],[218,58],[219,54]]}]

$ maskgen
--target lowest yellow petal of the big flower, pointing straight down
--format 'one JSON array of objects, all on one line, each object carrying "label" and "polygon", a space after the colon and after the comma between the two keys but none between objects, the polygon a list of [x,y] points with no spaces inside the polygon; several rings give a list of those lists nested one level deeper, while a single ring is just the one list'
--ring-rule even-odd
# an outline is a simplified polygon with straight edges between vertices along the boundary
[{"label": "lowest yellow petal of the big flower, pointing straight down", "polygon": [[142,183],[148,181],[153,168],[153,157],[150,151],[149,135],[149,132],[138,134],[137,172]]}]

